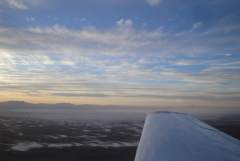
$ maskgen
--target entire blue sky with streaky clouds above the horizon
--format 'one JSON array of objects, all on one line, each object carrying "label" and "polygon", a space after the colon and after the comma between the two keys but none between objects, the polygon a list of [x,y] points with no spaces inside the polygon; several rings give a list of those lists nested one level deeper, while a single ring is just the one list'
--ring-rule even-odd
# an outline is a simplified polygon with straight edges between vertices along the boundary
[{"label": "entire blue sky with streaky clouds above the horizon", "polygon": [[0,0],[0,101],[239,107],[239,0]]}]

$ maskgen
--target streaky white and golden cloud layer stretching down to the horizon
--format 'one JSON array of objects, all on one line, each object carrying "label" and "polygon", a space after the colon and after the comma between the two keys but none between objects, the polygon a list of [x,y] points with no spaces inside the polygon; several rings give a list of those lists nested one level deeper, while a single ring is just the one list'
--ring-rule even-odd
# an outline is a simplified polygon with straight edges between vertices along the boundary
[{"label": "streaky white and golden cloud layer stretching down to the horizon", "polygon": [[[156,6],[161,1],[148,3]],[[33,5],[27,0],[5,4],[24,12],[27,25],[0,25],[1,100],[239,105],[240,25],[232,15],[214,23],[188,20],[179,28],[149,27],[148,19],[140,23],[138,17],[124,16],[108,27],[82,24],[90,21],[84,18],[79,27],[68,21],[41,24],[27,14]],[[106,23],[102,21],[98,24]]]}]

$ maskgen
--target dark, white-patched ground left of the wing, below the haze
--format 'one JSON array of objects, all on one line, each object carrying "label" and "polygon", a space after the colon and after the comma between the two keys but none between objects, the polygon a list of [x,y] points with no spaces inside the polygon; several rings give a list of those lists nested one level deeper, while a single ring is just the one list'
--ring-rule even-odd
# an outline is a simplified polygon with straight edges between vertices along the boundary
[{"label": "dark, white-patched ground left of the wing, below the haze", "polygon": [[143,122],[0,118],[0,160],[132,160]]}]

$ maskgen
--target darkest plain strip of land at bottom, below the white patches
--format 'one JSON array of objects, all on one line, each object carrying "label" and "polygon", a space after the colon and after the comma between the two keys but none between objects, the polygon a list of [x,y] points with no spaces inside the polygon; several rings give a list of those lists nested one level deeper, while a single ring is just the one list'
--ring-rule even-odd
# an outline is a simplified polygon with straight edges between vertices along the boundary
[{"label": "darkest plain strip of land at bottom, below the white patches", "polygon": [[1,161],[133,161],[136,147],[78,147],[33,149],[28,152],[0,152]]}]

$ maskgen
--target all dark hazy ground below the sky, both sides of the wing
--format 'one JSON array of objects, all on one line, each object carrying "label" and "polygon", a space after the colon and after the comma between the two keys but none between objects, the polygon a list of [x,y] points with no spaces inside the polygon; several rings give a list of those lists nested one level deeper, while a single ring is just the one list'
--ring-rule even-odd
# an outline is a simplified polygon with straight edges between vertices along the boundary
[{"label": "all dark hazy ground below the sky, both sides of the wing", "polygon": [[[72,105],[0,105],[0,161],[133,161],[145,116]],[[240,139],[239,116],[202,119]]]}]

